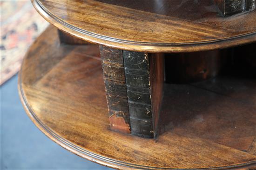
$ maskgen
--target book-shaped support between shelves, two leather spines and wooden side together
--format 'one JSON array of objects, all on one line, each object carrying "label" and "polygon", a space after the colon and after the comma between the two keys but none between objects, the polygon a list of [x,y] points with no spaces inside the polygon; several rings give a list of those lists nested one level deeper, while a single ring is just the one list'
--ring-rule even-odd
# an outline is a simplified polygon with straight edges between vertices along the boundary
[{"label": "book-shaped support between shelves, two leather spines and wooden side together", "polygon": [[163,57],[100,46],[110,128],[157,136],[162,101]]}]

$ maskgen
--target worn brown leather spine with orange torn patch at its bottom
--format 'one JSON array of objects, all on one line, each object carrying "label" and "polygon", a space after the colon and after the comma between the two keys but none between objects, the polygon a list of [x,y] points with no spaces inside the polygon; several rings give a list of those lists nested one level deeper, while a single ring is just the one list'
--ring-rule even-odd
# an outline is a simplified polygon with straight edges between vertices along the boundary
[{"label": "worn brown leather spine with orange torn patch at its bottom", "polygon": [[100,45],[100,53],[110,128],[117,132],[131,133],[122,50]]}]

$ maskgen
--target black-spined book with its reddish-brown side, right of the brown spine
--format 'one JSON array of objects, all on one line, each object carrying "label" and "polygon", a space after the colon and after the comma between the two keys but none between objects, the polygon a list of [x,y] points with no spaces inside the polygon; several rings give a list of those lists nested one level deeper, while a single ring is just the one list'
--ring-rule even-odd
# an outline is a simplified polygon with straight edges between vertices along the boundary
[{"label": "black-spined book with its reddish-brown side, right of the brown spine", "polygon": [[145,138],[158,133],[163,57],[157,55],[123,50],[131,133]]}]

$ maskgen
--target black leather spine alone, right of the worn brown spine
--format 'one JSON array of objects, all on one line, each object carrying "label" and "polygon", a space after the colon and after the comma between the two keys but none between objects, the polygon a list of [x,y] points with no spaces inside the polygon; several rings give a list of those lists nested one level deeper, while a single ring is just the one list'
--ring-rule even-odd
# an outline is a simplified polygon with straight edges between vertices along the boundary
[{"label": "black leather spine alone, right of the worn brown spine", "polygon": [[154,137],[148,54],[123,50],[131,133]]}]

